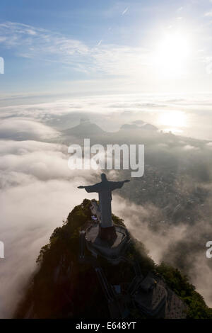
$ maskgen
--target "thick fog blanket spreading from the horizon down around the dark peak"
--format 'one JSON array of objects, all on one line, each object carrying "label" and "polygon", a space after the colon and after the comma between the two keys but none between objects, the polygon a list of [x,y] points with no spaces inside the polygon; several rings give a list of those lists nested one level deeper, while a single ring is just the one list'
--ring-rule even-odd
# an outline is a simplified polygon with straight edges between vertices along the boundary
[{"label": "thick fog blanket spreading from the horizon down around the dark peak", "polygon": [[[130,96],[124,100],[122,96],[98,96],[1,108],[0,241],[5,244],[5,258],[0,259],[0,317],[12,315],[30,274],[36,269],[35,259],[40,247],[48,242],[54,228],[60,226],[70,210],[84,198],[97,198],[96,194],[81,191],[77,186],[97,181],[100,171],[69,169],[68,147],[62,140],[62,130],[78,125],[84,116],[109,132],[119,130],[124,123],[141,124],[141,120],[159,130],[169,130],[168,125],[160,124],[160,114],[173,110],[187,117],[187,123],[178,126],[182,131],[180,135],[208,139],[195,143],[181,138],[171,155],[175,157],[174,163],[176,160],[178,164],[183,157],[182,164],[187,167],[189,156],[189,163],[193,159],[196,165],[196,169],[189,169],[191,174],[186,181],[179,179],[182,195],[192,193],[191,179],[208,193],[204,208],[198,205],[196,211],[193,210],[198,219],[192,224],[184,221],[182,215],[175,225],[161,223],[164,212],[160,207],[150,201],[138,204],[133,197],[125,195],[125,189],[114,193],[112,209],[124,218],[129,230],[145,244],[157,263],[165,260],[188,273],[208,305],[212,305],[212,259],[206,259],[205,247],[212,239],[209,112],[212,101],[208,96],[201,96],[198,103],[191,98]],[[151,154],[155,156],[160,148],[167,156],[169,144],[153,142]],[[117,180],[121,177],[119,171],[112,171],[110,176]],[[143,186],[142,179],[140,184]],[[124,199],[120,201],[119,196]]]}]

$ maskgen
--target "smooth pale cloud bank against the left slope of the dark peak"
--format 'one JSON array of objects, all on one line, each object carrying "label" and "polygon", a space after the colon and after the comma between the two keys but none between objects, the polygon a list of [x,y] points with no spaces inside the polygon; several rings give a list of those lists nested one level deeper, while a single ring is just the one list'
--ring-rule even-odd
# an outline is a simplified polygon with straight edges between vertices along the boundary
[{"label": "smooth pale cloud bank against the left slope of the dark peak", "polygon": [[52,230],[85,198],[85,193],[76,189],[81,181],[31,181],[0,191],[0,235],[5,244],[0,267],[1,318],[11,317]]}]

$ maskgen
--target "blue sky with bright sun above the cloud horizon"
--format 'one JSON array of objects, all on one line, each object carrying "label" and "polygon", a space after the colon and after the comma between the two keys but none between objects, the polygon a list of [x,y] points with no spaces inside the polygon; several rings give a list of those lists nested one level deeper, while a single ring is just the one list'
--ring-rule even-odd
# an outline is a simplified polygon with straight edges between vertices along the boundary
[{"label": "blue sky with bright sun above the cloud horizon", "polygon": [[1,99],[205,93],[212,1],[3,0]]}]

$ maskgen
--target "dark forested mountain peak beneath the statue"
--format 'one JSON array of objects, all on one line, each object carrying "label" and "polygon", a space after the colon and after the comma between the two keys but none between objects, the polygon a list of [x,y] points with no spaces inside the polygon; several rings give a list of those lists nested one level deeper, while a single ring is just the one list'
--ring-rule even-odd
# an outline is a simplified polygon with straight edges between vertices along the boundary
[{"label": "dark forested mountain peak beneath the statue", "polygon": [[[164,263],[156,265],[128,232],[121,261],[90,252],[86,232],[98,225],[91,208],[92,201],[85,199],[54,230],[14,317],[212,318],[188,278]],[[126,230],[123,220],[112,219]]]}]

